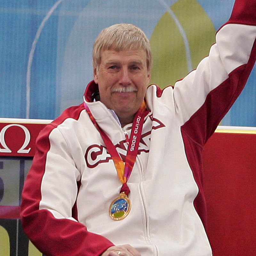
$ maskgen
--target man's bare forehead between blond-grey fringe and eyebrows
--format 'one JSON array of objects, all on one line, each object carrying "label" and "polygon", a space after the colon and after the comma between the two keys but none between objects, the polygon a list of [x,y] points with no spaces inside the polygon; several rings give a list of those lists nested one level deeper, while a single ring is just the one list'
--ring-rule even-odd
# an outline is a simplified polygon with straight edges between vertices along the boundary
[{"label": "man's bare forehead between blond-grey fringe and eyebrows", "polygon": [[146,51],[143,49],[104,50],[101,52],[101,64],[107,62],[141,62],[146,64],[146,59]]}]

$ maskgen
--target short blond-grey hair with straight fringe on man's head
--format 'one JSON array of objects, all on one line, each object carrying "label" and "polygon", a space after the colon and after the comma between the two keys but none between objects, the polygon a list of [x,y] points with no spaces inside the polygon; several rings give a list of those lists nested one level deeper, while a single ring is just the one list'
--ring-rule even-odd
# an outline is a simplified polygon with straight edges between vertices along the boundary
[{"label": "short blond-grey hair with straight fringe on man's head", "polygon": [[98,69],[101,61],[101,52],[115,50],[117,52],[143,49],[146,52],[147,69],[152,68],[152,54],[150,44],[145,33],[132,24],[115,24],[103,29],[94,42],[92,48],[92,66]]}]

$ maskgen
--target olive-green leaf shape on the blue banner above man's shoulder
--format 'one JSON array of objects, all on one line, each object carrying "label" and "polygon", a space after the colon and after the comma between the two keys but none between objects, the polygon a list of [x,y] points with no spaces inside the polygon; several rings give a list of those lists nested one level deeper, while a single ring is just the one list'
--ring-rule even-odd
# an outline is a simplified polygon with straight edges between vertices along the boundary
[{"label": "olive-green leaf shape on the blue banner above man's shoulder", "polygon": [[[196,0],[178,0],[171,10],[186,33],[192,69],[195,69],[215,43],[215,28]],[[164,88],[191,71],[188,70],[183,37],[169,12],[165,12],[157,23],[150,44],[153,55],[151,83]]]}]

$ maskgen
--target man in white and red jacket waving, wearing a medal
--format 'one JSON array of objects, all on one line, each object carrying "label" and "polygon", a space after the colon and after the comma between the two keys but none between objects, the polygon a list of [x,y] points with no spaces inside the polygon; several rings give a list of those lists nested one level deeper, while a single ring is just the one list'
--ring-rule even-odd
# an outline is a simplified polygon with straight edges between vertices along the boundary
[{"label": "man in white and red jacket waving, wearing a medal", "polygon": [[[256,1],[236,0],[197,69],[147,88],[147,37],[103,30],[84,103],[37,139],[22,222],[46,255],[208,256],[202,150],[255,60]],[[129,245],[128,245],[129,244]]]}]

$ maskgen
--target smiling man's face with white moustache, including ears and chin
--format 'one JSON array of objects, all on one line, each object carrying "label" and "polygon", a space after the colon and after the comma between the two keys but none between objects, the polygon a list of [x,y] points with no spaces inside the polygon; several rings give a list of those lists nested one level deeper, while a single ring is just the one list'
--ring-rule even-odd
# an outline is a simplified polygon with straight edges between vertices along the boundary
[{"label": "smiling man's face with white moustache, including ears and chin", "polygon": [[138,111],[149,80],[146,52],[142,49],[105,50],[101,53],[98,70],[94,69],[100,101],[113,109],[119,118],[133,116]]}]

